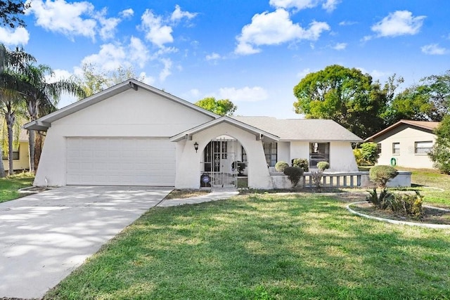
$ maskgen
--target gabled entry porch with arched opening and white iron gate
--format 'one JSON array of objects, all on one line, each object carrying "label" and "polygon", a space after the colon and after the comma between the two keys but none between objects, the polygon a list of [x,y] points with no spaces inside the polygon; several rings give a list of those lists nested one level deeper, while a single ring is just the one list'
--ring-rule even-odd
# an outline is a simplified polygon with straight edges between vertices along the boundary
[{"label": "gabled entry porch with arched opening and white iron gate", "polygon": [[274,188],[262,143],[276,142],[278,136],[221,117],[171,141],[176,143],[175,188],[230,188],[242,183],[248,188]]}]

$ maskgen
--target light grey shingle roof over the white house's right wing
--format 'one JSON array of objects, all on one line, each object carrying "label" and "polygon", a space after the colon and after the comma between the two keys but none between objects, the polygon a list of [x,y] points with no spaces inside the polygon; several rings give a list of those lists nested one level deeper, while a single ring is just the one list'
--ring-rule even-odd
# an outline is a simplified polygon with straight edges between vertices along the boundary
[{"label": "light grey shingle roof over the white house's right wing", "polygon": [[330,119],[276,119],[274,117],[233,117],[280,137],[280,141],[346,141],[362,139]]}]

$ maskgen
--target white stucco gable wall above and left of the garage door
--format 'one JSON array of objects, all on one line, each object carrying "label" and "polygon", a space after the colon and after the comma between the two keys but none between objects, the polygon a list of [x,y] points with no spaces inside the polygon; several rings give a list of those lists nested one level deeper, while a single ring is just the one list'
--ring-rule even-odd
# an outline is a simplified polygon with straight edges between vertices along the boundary
[{"label": "white stucco gable wall above and left of the garage door", "polygon": [[66,137],[168,138],[211,119],[143,89],[124,91],[51,124],[34,185],[65,185]]}]

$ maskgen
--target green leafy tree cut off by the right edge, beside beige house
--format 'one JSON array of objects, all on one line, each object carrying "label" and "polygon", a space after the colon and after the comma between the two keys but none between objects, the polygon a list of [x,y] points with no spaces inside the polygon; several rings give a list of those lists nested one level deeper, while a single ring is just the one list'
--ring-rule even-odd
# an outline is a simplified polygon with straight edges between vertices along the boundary
[{"label": "green leafy tree cut off by the right edge, beside beige house", "polygon": [[428,155],[435,167],[450,174],[450,115],[446,115],[435,129],[436,143]]}]

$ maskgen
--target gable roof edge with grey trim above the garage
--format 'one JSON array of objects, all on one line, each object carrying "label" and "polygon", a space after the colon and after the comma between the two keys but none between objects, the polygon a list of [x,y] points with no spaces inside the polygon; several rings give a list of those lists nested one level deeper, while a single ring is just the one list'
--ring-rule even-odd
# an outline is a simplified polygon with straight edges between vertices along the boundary
[{"label": "gable roof edge with grey trim above the garage", "polygon": [[79,110],[84,110],[85,108],[94,105],[96,103],[99,103],[105,99],[111,98],[119,93],[122,93],[124,91],[129,91],[130,89],[134,89],[135,91],[138,91],[139,89],[144,89],[146,91],[149,91],[150,93],[155,93],[158,96],[161,96],[162,98],[165,98],[167,100],[174,101],[175,103],[178,103],[179,105],[184,105],[186,107],[189,107],[195,111],[198,111],[200,113],[203,113],[204,115],[207,115],[209,117],[213,117],[214,119],[220,117],[219,115],[214,114],[214,112],[210,112],[209,110],[205,110],[202,107],[199,107],[197,105],[194,105],[193,103],[190,103],[186,100],[183,100],[181,98],[178,98],[176,96],[173,96],[169,93],[166,93],[165,91],[161,91],[159,89],[154,88],[153,86],[149,86],[147,84],[144,84],[141,81],[137,81],[135,79],[129,79],[127,81],[124,81],[120,84],[117,84],[115,86],[110,87],[109,89],[105,89],[104,91],[101,91],[99,93],[96,93],[93,96],[90,96],[88,98],[84,98],[83,100],[79,100],[75,103],[72,103],[71,105],[68,105],[66,107],[61,108],[60,110],[57,110],[56,112],[52,112],[49,115],[46,115],[44,117],[41,117],[37,119],[34,122],[30,122],[25,124],[23,127],[25,129],[32,129],[32,130],[47,130],[51,126],[52,122],[55,122],[58,119],[62,119],[63,117],[67,117],[68,115],[72,115],[75,112],[78,112]]}]

